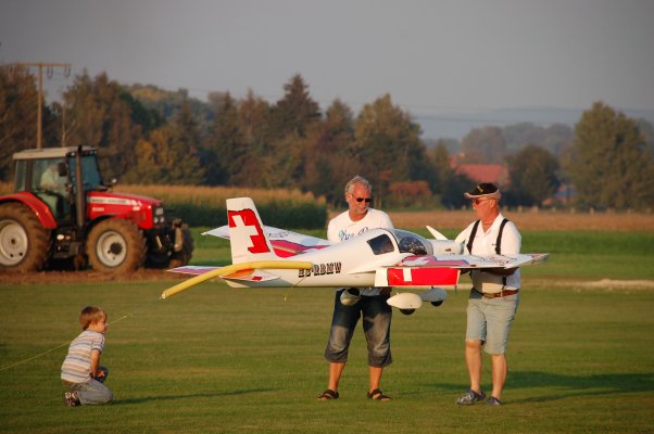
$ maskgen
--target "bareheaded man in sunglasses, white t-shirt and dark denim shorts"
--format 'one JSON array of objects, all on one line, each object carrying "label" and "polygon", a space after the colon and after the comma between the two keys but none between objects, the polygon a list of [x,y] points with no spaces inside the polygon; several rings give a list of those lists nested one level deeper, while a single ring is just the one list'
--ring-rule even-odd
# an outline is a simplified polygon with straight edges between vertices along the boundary
[{"label": "bareheaded man in sunglasses, white t-shirt and dark denim shorts", "polygon": [[[373,188],[360,176],[345,186],[348,210],[329,221],[327,238],[338,243],[356,237],[367,230],[393,228],[390,217],[382,210],[369,207]],[[344,293],[344,294],[343,294]],[[356,294],[359,293],[359,296]],[[344,295],[341,298],[341,295]],[[356,323],[363,316],[363,328],[368,344],[369,387],[368,398],[389,400],[379,388],[383,368],[392,362],[390,348],[391,307],[386,303],[390,288],[360,288],[336,290],[334,317],[325,358],[329,361],[329,383],[318,396],[320,400],[337,399],[338,383],[345,363],[350,341]]]}]

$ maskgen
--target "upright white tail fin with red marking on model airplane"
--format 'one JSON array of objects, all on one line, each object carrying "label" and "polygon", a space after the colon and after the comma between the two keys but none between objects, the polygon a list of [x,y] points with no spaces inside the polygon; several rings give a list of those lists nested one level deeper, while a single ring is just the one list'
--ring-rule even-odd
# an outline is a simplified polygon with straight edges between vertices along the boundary
[{"label": "upright white tail fin with red marking on model airplane", "polygon": [[227,200],[227,226],[232,264],[279,259],[266,235],[252,199]]}]

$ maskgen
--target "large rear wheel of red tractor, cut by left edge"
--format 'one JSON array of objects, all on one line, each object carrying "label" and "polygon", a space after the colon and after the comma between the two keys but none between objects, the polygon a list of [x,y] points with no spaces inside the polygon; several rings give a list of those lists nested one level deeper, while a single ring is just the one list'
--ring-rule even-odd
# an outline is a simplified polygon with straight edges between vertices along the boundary
[{"label": "large rear wheel of red tractor, cut by left edge", "polygon": [[50,254],[50,230],[20,203],[0,205],[0,269],[38,271]]}]

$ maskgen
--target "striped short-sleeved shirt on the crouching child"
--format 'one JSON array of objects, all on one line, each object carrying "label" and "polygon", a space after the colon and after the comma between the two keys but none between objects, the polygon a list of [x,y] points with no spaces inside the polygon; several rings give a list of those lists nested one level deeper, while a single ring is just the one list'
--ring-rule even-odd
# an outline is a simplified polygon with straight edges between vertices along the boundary
[{"label": "striped short-sleeved shirt on the crouching child", "polygon": [[61,366],[61,379],[71,383],[86,383],[91,378],[91,352],[102,353],[104,334],[85,330],[71,342],[68,355]]}]

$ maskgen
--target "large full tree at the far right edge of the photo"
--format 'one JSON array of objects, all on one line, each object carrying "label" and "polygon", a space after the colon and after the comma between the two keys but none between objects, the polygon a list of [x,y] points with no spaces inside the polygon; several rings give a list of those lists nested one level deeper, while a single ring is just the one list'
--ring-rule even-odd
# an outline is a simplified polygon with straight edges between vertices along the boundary
[{"label": "large full tree at the far right edge of the photo", "polygon": [[654,203],[654,163],[636,123],[602,102],[575,126],[567,173],[582,206],[644,208]]}]

